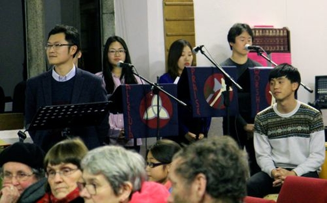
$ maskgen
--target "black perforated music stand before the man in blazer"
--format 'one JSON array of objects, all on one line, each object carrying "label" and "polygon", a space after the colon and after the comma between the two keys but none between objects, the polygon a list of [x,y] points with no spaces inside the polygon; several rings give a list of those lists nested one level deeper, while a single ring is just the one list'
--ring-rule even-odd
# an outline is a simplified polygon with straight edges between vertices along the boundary
[{"label": "black perforated music stand before the man in blazer", "polygon": [[37,110],[27,131],[60,129],[61,135],[68,137],[68,128],[100,125],[108,111],[107,101],[43,106]]}]

